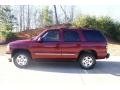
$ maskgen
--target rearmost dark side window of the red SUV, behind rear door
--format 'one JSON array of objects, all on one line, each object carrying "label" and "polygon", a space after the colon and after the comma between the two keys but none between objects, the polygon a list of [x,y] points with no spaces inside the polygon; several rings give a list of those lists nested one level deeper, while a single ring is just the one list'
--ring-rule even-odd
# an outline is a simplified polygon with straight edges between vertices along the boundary
[{"label": "rearmost dark side window of the red SUV, behind rear door", "polygon": [[105,37],[99,31],[83,31],[87,41],[90,42],[103,42],[106,41]]}]

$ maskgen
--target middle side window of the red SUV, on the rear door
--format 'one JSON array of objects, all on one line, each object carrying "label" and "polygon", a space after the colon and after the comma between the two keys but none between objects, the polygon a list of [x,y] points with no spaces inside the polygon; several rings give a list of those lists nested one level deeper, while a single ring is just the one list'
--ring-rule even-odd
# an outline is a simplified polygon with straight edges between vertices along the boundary
[{"label": "middle side window of the red SUV, on the rear door", "polygon": [[79,33],[76,31],[64,31],[64,41],[65,42],[77,42],[80,41]]}]

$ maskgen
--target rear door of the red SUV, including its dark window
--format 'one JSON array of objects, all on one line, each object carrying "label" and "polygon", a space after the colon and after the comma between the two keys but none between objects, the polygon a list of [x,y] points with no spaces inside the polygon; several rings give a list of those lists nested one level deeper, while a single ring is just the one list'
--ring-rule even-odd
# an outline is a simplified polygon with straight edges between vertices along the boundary
[{"label": "rear door of the red SUV, including its dark window", "polygon": [[80,51],[80,34],[77,30],[62,31],[62,58],[76,59]]}]

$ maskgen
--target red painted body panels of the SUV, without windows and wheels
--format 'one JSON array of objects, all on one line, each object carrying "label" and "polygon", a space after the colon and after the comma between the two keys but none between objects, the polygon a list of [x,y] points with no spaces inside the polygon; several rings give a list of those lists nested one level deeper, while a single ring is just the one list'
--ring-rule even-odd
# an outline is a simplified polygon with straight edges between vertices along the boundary
[{"label": "red painted body panels of the SUV, without windows and wheels", "polygon": [[27,50],[30,52],[32,59],[64,59],[76,60],[81,51],[92,50],[97,54],[97,59],[103,59],[107,56],[107,42],[87,42],[82,31],[75,29],[80,35],[80,42],[64,42],[63,30],[56,29],[60,34],[59,42],[39,42],[38,38],[49,30],[40,33],[35,39],[18,40],[9,43],[10,49],[7,51],[11,54],[15,50]]}]

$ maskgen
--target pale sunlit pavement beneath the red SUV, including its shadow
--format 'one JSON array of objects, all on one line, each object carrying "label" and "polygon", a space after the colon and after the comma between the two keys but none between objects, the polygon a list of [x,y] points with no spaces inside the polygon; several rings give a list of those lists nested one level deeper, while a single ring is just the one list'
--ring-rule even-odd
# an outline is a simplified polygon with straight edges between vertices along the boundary
[{"label": "pale sunlit pavement beneath the red SUV, including its shadow", "polygon": [[120,90],[120,56],[98,60],[83,70],[75,62],[33,62],[19,69],[0,56],[0,90]]}]

